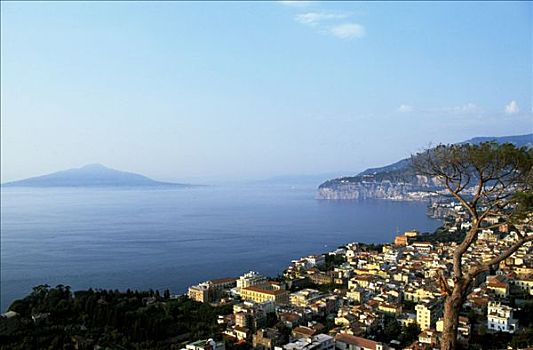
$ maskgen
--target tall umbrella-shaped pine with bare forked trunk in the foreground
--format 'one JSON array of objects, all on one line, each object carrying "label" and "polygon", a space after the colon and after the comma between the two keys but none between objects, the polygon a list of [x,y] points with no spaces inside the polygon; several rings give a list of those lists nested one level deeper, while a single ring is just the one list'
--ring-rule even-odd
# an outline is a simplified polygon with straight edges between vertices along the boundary
[{"label": "tall umbrella-shaped pine with bare forked trunk in the foreground", "polygon": [[[411,161],[418,175],[436,179],[461,204],[472,224],[453,253],[453,285],[443,274],[438,276],[445,297],[441,349],[455,349],[459,312],[476,277],[533,240],[533,149],[494,142],[439,145],[414,155]],[[499,223],[489,224],[491,217],[499,218]],[[475,247],[478,233],[503,223],[516,232],[514,243],[489,261],[463,266],[462,259]]]}]

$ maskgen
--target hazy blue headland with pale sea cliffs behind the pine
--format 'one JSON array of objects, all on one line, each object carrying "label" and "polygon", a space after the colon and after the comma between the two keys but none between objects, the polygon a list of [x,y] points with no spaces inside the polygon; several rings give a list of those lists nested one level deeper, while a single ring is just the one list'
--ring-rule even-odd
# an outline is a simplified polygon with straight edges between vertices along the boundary
[{"label": "hazy blue headland with pale sea cliffs behind the pine", "polygon": [[[475,137],[460,144],[494,141],[512,143],[517,147],[533,147],[533,134]],[[434,179],[416,175],[409,167],[410,159],[405,158],[396,163],[380,168],[369,168],[355,176],[328,180],[318,187],[318,195],[323,199],[396,199],[418,200],[436,189]]]}]

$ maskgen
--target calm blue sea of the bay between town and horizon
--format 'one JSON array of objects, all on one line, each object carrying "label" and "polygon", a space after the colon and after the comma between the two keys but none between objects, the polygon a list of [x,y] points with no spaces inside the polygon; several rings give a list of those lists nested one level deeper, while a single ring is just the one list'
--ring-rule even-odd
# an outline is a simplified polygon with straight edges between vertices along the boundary
[{"label": "calm blue sea of the bay between town and horizon", "polygon": [[250,269],[274,276],[299,256],[439,225],[423,203],[315,195],[289,185],[2,189],[1,309],[42,283],[184,292]]}]

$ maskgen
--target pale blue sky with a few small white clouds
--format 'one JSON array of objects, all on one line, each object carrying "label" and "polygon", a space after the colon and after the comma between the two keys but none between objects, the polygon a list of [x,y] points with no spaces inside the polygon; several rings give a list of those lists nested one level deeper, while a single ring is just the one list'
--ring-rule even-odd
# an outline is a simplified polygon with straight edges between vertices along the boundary
[{"label": "pale blue sky with a few small white clouds", "polygon": [[527,2],[1,2],[1,181],[339,173],[533,132]]}]

